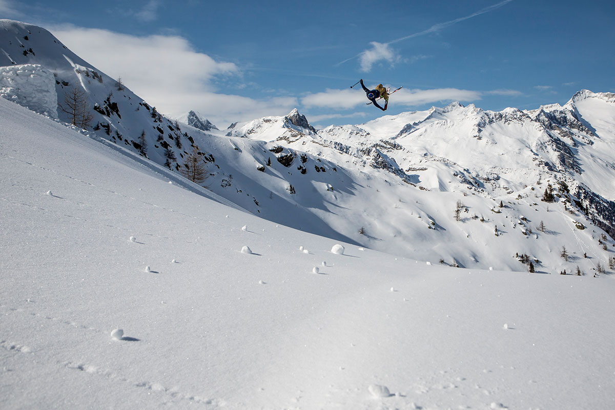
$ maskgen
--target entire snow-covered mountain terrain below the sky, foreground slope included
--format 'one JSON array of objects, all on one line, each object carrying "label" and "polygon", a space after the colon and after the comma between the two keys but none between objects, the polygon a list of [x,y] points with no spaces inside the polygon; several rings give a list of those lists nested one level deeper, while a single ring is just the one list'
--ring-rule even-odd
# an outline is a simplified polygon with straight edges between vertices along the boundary
[{"label": "entire snow-covered mountain terrain below the sky, foreground slope included", "polygon": [[192,127],[0,23],[1,408],[615,406],[613,95]]}]

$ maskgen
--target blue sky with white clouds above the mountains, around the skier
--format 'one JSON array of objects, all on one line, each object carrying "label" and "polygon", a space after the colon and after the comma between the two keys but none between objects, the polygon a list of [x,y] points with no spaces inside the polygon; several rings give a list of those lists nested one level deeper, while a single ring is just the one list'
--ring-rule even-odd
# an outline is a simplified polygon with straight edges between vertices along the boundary
[{"label": "blue sky with white clouds above the mountains, around the skier", "polygon": [[218,127],[285,115],[317,127],[383,115],[350,86],[403,89],[386,114],[474,103],[499,111],[615,92],[610,1],[0,0],[161,112]]}]

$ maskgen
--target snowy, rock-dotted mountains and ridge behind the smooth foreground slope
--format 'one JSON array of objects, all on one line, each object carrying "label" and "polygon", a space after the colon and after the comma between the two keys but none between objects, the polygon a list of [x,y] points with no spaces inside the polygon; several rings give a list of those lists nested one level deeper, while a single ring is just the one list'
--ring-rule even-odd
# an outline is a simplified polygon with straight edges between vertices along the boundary
[{"label": "snowy, rock-dotted mountains and ridge behind the smooth foreground slope", "polygon": [[[169,119],[129,86],[43,28],[0,20],[2,97],[178,173],[196,154],[202,184],[255,215],[451,266],[595,274],[613,257],[613,93],[529,111],[452,103],[322,130],[294,109],[218,130],[194,111]],[[70,125],[75,93],[85,125]]]}]

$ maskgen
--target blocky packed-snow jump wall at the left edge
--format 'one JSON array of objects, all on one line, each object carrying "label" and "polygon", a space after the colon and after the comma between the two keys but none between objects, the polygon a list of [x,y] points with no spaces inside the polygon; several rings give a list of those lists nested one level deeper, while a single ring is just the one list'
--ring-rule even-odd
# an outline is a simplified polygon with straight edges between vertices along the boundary
[{"label": "blocky packed-snow jump wall at the left edge", "polygon": [[39,114],[58,118],[54,74],[40,65],[0,67],[0,97]]}]

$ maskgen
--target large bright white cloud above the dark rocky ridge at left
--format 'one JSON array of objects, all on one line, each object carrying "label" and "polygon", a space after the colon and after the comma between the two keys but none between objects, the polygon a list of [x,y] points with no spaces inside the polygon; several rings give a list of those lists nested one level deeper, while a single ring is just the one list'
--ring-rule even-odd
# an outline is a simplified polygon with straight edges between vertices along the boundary
[{"label": "large bright white cloud above the dark rocky ridge at left", "polygon": [[228,95],[215,80],[241,77],[239,67],[197,52],[180,36],[138,37],[76,26],[50,31],[108,76],[122,77],[130,90],[169,116],[194,109],[223,127],[239,120],[285,115],[297,104],[293,97],[259,101]]}]

